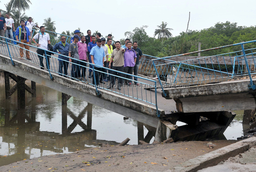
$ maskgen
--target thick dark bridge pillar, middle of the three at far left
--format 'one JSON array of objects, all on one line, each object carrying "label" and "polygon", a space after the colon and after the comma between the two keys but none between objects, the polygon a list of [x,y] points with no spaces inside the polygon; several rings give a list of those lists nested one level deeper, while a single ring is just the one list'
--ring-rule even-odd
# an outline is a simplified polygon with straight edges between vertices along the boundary
[{"label": "thick dark bridge pillar, middle of the three at far left", "polygon": [[18,109],[25,109],[25,78],[17,76]]}]

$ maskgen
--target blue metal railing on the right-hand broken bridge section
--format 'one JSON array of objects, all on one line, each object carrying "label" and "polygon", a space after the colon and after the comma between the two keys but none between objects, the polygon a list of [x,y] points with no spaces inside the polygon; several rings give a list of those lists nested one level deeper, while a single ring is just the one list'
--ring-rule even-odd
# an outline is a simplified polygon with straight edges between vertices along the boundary
[{"label": "blue metal railing on the right-hand broken bridge section", "polygon": [[[234,76],[249,76],[250,85],[248,85],[248,87],[249,89],[255,90],[256,86],[253,83],[251,74],[256,74],[256,59],[254,56],[254,54],[256,54],[256,48],[250,48],[247,50],[244,49],[244,45],[252,43],[256,43],[256,40],[225,45],[222,47],[210,48],[207,50],[195,51],[186,54],[178,54],[175,56],[152,59],[152,64],[154,66],[155,72],[157,73],[163,94],[166,96],[163,85],[222,82],[227,81],[228,79],[232,79]],[[173,57],[177,56],[185,56],[233,46],[241,46],[241,51],[234,51],[226,54],[219,54],[215,56],[207,56],[178,62],[172,60]],[[165,60],[167,63],[159,64],[157,62],[159,60]],[[172,69],[177,69],[176,73],[174,71],[164,71],[166,70],[166,67],[163,66],[166,65],[171,65]],[[165,75],[161,76],[160,72],[165,73]]]}]

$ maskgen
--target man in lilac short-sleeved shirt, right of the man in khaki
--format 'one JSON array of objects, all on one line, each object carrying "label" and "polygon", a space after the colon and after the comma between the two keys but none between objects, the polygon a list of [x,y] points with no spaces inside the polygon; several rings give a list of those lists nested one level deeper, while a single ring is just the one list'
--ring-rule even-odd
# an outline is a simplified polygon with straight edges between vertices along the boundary
[{"label": "man in lilac short-sleeved shirt, right of the man in khaki", "polygon": [[[131,44],[132,43],[130,41],[127,42],[127,48],[125,48],[125,54],[124,54],[124,59],[125,59],[124,72],[129,74],[132,74],[135,63],[136,63],[136,59],[137,59],[137,55],[135,51],[131,48]],[[124,75],[124,78],[126,78],[125,84],[130,86],[131,82],[129,81],[129,79],[131,78],[131,76]]]}]

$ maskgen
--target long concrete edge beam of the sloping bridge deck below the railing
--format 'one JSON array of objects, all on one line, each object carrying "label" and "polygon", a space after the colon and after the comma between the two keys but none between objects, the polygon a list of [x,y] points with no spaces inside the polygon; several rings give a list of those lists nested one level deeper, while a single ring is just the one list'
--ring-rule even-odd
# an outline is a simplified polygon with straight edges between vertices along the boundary
[{"label": "long concrete edge beam of the sloping bridge deck below the railing", "polygon": [[[22,76],[26,79],[30,79],[30,80],[32,80],[32,78],[33,78],[32,76],[28,77],[28,76],[26,76],[27,74],[23,74],[21,72],[18,72],[18,70],[23,70],[24,72],[30,73],[32,75],[40,76],[42,78],[41,81],[38,82],[38,80],[37,80],[35,82],[47,86],[46,82],[48,83],[48,81],[46,81],[46,80],[50,80],[48,71],[41,70],[40,68],[36,68],[36,67],[28,65],[26,63],[19,62],[15,59],[13,59],[13,62],[15,63],[15,66],[12,65],[12,62],[9,59],[9,57],[0,55],[0,68],[1,69],[6,70],[10,73],[14,73],[15,75]],[[94,87],[82,87],[86,84],[81,83],[81,82],[76,82],[76,81],[71,80],[71,79],[66,79],[63,76],[59,76],[59,75],[55,74],[54,72],[52,72],[52,76],[54,77],[54,80],[52,82],[55,82],[55,83],[58,83],[58,84],[61,84],[61,85],[64,85],[64,86],[78,85],[78,87],[76,87],[76,88],[67,88],[67,89],[76,89],[76,90],[79,90],[83,93],[87,93],[89,95],[92,95],[92,96],[95,96],[96,98],[98,98],[97,95],[96,95],[96,89]],[[49,83],[48,83],[48,86],[49,86]],[[110,102],[113,102],[115,104],[121,105],[123,107],[127,107],[127,108],[135,110],[137,112],[140,112],[140,113],[146,114],[148,116],[157,118],[157,116],[156,116],[156,114],[157,114],[156,107],[150,106],[148,104],[143,104],[141,102],[137,102],[137,101],[134,101],[132,99],[128,99],[124,96],[120,96],[120,95],[117,95],[117,94],[112,94],[111,92],[109,92],[107,90],[101,89],[100,92],[101,92],[101,97],[98,98],[98,99],[104,99],[106,101],[110,101]],[[66,94],[68,94],[68,93],[66,93]],[[160,115],[164,114],[164,110],[161,110],[161,109],[158,109],[158,110],[159,110]]]}]

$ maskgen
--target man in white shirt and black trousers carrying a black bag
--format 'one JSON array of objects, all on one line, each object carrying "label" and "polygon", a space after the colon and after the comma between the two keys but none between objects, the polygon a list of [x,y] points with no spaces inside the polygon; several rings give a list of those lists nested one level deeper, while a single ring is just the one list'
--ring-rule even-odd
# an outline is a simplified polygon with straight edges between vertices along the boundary
[{"label": "man in white shirt and black trousers carrying a black bag", "polygon": [[[39,37],[39,41],[36,42],[35,39],[38,39]],[[41,49],[37,50],[37,54],[38,54],[38,58],[40,59],[40,66],[41,69],[44,70],[44,56],[50,55],[50,53],[48,51],[44,50],[48,50],[48,44],[51,44],[50,42],[50,37],[49,34],[45,33],[45,28],[44,26],[40,27],[40,33],[39,34],[35,34],[35,36],[33,37],[32,41]],[[48,59],[48,65],[50,66],[50,61],[49,61],[49,56],[47,56]],[[47,62],[46,62],[46,68],[48,69],[47,66]]]}]

